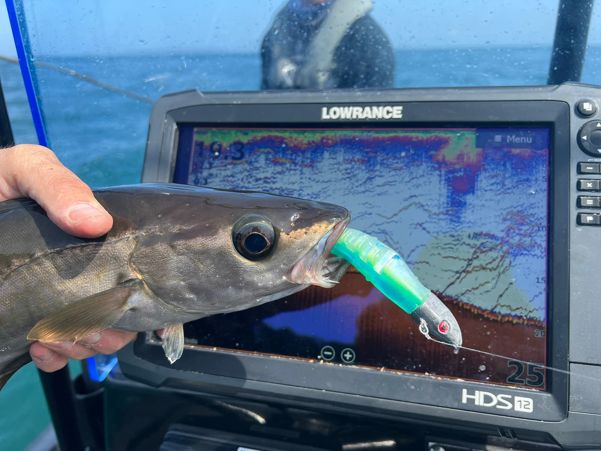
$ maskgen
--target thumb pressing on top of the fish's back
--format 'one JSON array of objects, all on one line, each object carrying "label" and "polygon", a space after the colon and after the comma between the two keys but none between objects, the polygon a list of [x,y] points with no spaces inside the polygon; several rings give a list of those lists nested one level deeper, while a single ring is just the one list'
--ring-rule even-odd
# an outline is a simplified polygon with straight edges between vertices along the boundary
[{"label": "thumb pressing on top of the fish's back", "polygon": [[22,144],[0,150],[0,201],[31,197],[65,232],[84,238],[104,235],[112,217],[94,195],[54,153],[43,146]]}]

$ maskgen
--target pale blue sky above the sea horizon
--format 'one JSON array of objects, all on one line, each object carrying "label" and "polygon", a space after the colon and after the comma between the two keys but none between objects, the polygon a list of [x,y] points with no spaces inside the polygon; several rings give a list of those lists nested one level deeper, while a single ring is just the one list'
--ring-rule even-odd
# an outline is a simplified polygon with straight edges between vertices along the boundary
[{"label": "pale blue sky above the sea horizon", "polygon": [[[589,44],[601,44],[597,2]],[[25,0],[35,54],[257,52],[282,0]],[[549,46],[558,0],[373,0],[395,49]],[[14,57],[4,2],[0,55]]]}]

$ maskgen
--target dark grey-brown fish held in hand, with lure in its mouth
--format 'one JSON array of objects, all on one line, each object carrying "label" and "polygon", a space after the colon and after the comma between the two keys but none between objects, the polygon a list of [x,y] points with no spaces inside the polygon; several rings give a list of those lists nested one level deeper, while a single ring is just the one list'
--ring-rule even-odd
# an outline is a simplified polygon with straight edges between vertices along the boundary
[{"label": "dark grey-brown fish held in hand, with lure in its mouth", "polygon": [[63,232],[34,200],[0,203],[0,389],[31,340],[165,328],[173,363],[184,323],[332,287],[350,266],[330,253],[350,221],[334,204],[170,183],[93,193],[114,221],[96,239]]}]

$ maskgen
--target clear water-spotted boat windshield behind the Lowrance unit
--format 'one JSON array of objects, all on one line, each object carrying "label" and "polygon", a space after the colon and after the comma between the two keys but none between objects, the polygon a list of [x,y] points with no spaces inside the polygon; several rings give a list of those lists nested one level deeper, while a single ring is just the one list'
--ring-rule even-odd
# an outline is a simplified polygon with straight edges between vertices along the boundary
[{"label": "clear water-spotted boat windshield behind the Lowrance unit", "polygon": [[[558,17],[557,0],[14,5],[38,138],[92,186],[139,182],[150,109],[165,94],[546,84]],[[584,44],[591,16],[581,81],[598,82],[601,6],[562,10],[582,16]],[[4,73],[17,69],[0,64],[8,97],[15,77]],[[13,126],[31,142],[31,128]]]}]

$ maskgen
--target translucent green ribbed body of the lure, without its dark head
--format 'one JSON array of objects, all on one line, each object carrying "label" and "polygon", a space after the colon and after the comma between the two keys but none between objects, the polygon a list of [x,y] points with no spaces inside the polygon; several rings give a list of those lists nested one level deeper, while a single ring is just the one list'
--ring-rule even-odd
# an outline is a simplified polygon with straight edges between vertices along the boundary
[{"label": "translucent green ribbed body of the lure, without its dark head", "polygon": [[431,294],[407,263],[374,236],[347,228],[331,252],[355,266],[367,281],[409,314]]}]

